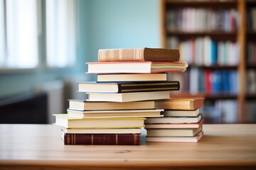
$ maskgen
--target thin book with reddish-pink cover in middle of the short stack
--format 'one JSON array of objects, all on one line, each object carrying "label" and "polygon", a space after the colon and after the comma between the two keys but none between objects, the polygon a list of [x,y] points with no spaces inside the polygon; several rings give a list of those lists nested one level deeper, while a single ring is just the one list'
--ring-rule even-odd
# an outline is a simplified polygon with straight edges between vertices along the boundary
[{"label": "thin book with reddish-pink cover in middle of the short stack", "polygon": [[204,120],[198,123],[145,123],[145,129],[193,129],[203,125]]}]

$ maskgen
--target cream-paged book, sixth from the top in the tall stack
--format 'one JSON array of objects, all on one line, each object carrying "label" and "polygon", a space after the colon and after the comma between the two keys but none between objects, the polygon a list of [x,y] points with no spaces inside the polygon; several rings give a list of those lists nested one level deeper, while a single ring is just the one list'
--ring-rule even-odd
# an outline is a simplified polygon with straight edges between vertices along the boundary
[{"label": "cream-paged book, sixth from the top in the tall stack", "polygon": [[154,101],[107,102],[69,99],[69,108],[78,111],[153,109]]}]

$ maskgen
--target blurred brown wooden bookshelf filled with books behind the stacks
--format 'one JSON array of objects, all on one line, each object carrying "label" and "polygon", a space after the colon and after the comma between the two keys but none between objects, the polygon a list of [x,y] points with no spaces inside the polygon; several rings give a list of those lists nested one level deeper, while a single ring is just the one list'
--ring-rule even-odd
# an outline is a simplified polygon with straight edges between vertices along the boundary
[{"label": "blurred brown wooden bookshelf filled with books behind the stacks", "polygon": [[205,97],[206,123],[255,123],[256,1],[162,0],[161,28],[162,47],[189,64],[169,74],[181,81],[171,95]]}]

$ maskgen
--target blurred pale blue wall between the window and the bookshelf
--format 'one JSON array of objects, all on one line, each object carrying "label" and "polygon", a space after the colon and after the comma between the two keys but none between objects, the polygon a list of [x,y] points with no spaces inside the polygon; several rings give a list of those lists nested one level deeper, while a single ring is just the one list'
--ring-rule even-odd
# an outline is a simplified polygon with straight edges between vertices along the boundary
[{"label": "blurred pale blue wall between the window and the bookshelf", "polygon": [[160,47],[160,1],[79,0],[78,62],[73,68],[0,73],[0,98],[31,91],[43,82],[85,75],[85,62],[97,62],[97,50],[116,47]]}]

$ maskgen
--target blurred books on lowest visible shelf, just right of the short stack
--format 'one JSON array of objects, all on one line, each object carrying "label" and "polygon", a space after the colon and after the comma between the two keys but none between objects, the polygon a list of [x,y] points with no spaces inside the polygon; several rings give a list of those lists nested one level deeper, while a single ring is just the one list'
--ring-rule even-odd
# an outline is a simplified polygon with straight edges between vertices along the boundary
[{"label": "blurred books on lowest visible shelf, just right of the short stack", "polygon": [[233,99],[205,101],[202,113],[206,123],[237,123],[238,101]]}]

